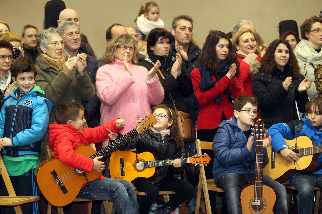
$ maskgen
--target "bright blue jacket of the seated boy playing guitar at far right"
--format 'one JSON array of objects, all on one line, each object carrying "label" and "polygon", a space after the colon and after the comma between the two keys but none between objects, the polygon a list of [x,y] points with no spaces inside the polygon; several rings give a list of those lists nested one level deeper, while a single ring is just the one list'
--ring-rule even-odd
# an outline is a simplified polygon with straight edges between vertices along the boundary
[{"label": "bright blue jacket of the seated boy playing guitar at far right", "polygon": [[[309,137],[313,142],[317,144],[317,146],[321,145],[322,141],[322,131],[318,131],[315,127],[313,127],[310,123],[309,119],[302,119],[304,121],[304,124],[300,130],[300,132],[295,132],[294,137],[292,135],[292,132],[290,130],[289,124],[290,123],[296,123],[295,128],[297,127],[298,121],[291,121],[290,123],[278,123],[274,124],[270,127],[268,130],[268,135],[272,137],[272,148],[274,151],[279,152],[282,148],[289,148],[288,145],[286,145],[286,142],[283,138],[286,140],[292,140],[298,136],[307,136]],[[312,145],[311,145],[312,146]],[[308,145],[308,147],[310,147]],[[317,161],[317,166],[322,163],[322,154],[319,156]],[[299,173],[296,173],[292,175],[290,178],[295,177]],[[314,172],[314,174],[322,174],[322,169],[318,170],[317,172]],[[289,179],[289,182],[291,179]]]}]

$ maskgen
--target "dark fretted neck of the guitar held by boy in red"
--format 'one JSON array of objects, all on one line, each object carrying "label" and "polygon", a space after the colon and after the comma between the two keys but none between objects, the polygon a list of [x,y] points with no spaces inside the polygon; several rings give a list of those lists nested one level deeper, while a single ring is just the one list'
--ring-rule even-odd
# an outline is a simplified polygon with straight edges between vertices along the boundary
[{"label": "dark fretted neck of the guitar held by boy in red", "polygon": [[89,158],[93,159],[93,158],[96,158],[99,156],[103,156],[104,158],[109,158],[110,155],[114,151],[116,151],[119,148],[121,148],[122,146],[124,146],[128,141],[130,141],[132,138],[134,138],[138,134],[139,134],[139,132],[135,128],[132,131],[128,132],[127,134],[125,134],[125,135],[121,136],[120,138],[118,138],[117,140],[115,140],[113,143],[110,143],[107,147],[104,147],[102,150],[99,150],[98,152],[96,152],[95,154],[90,156]]}]

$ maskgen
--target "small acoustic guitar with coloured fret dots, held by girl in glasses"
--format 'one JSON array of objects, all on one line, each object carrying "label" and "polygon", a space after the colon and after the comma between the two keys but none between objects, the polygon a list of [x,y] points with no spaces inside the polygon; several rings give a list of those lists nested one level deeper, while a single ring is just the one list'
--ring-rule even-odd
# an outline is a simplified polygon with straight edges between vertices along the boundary
[{"label": "small acoustic guitar with coloured fret dots, held by girl in glasses", "polygon": [[[149,178],[156,174],[156,167],[173,165],[175,159],[156,160],[151,152],[136,154],[132,151],[115,151],[109,160],[111,178],[124,179],[129,182],[139,177]],[[181,158],[181,163],[208,164],[209,155],[195,155],[190,158]]]}]

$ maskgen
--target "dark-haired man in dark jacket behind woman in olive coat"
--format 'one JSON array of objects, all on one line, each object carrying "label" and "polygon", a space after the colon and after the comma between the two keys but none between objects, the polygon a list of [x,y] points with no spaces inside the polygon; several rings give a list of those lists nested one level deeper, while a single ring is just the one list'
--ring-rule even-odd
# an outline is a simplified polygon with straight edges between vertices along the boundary
[{"label": "dark-haired man in dark jacket behind woman in olive coat", "polygon": [[21,40],[24,48],[24,56],[33,61],[33,64],[37,63],[37,57],[39,56],[37,50],[37,34],[38,29],[30,24],[24,26],[21,31]]}]

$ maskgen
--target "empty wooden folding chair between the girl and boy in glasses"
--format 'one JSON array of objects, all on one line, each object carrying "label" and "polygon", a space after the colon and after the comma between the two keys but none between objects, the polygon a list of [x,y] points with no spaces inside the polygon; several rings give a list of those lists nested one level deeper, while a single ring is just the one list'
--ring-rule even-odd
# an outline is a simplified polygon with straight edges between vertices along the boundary
[{"label": "empty wooden folding chair between the girl and boy in glasses", "polygon": [[[201,150],[209,150],[209,152],[213,152],[213,142],[208,141],[200,141],[196,139],[196,149],[197,154],[201,154]],[[198,183],[198,193],[197,193],[197,202],[196,202],[196,210],[195,213],[199,213],[200,200],[201,200],[201,191],[204,191],[204,202],[206,205],[206,210],[208,214],[211,214],[211,207],[209,201],[208,190],[223,193],[223,189],[216,186],[213,179],[206,179],[204,165],[200,164],[200,173],[199,173],[199,183]]]}]

